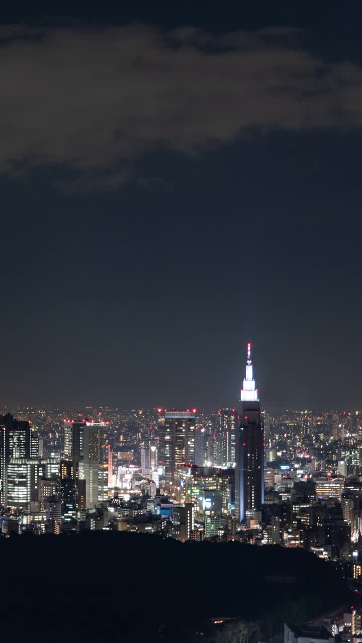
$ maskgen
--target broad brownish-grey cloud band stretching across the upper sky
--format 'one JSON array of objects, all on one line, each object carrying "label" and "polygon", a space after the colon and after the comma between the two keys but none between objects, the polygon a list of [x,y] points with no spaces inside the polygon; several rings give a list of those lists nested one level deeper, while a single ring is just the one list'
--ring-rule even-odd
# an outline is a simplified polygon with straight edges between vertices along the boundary
[{"label": "broad brownish-grey cloud band stretching across the upper sky", "polygon": [[191,153],[248,128],[360,127],[361,68],[292,49],[291,32],[3,26],[0,172],[65,164],[70,190],[113,188],[128,180],[120,163],[157,145]]}]

